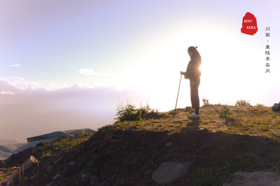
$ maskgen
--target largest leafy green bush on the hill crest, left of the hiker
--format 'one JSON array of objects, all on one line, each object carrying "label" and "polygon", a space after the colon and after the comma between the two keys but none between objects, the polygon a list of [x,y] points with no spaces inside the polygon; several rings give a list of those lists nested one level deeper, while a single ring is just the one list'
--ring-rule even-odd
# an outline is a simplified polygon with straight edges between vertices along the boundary
[{"label": "largest leafy green bush on the hill crest, left of the hiker", "polygon": [[136,121],[137,119],[141,120],[141,115],[146,114],[151,111],[150,105],[148,105],[148,102],[144,107],[142,107],[140,103],[140,108],[135,107],[131,102],[127,101],[127,105],[124,105],[123,102],[118,103],[117,105],[117,111],[116,114],[118,116],[117,122],[120,121]]}]

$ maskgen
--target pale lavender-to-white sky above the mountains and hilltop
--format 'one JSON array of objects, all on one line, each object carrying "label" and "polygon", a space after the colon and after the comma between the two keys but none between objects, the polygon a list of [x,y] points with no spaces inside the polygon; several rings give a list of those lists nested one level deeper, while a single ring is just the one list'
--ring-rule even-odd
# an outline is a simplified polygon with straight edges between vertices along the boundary
[{"label": "pale lavender-to-white sky above the mountains and hilltop", "polygon": [[[74,84],[81,92],[118,90],[110,99],[130,89],[143,95],[142,102],[166,111],[175,107],[179,72],[190,60],[187,48],[198,46],[200,100],[234,105],[246,99],[272,106],[280,101],[279,8],[276,0],[0,0],[0,80],[15,90],[26,89],[30,98],[38,88],[51,92]],[[240,31],[246,12],[258,22],[253,36]],[[270,27],[269,37],[265,27]],[[269,74],[266,44],[271,48]],[[0,90],[0,104],[7,96],[16,102],[16,93],[8,91]],[[178,107],[190,106],[189,91],[189,82],[182,79]],[[40,96],[45,100],[45,94]],[[135,105],[137,96],[130,95]]]}]

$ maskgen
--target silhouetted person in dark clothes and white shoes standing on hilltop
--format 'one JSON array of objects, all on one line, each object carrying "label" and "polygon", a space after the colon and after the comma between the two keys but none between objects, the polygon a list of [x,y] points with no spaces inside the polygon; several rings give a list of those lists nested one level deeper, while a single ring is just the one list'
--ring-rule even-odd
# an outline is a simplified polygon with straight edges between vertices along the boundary
[{"label": "silhouetted person in dark clothes and white shoes standing on hilltop", "polygon": [[190,55],[190,62],[186,72],[180,72],[184,75],[185,79],[190,79],[190,100],[192,107],[195,109],[193,114],[190,114],[189,118],[200,118],[200,97],[198,96],[198,86],[200,86],[200,65],[202,64],[200,53],[197,51],[197,47],[190,46],[188,48],[188,55]]}]

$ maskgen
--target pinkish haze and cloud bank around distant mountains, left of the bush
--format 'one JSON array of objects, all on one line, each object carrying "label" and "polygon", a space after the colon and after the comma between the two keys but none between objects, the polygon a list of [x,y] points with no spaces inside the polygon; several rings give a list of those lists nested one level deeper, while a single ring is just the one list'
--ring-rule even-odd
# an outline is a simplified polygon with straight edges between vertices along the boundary
[{"label": "pinkish haze and cloud bank around distant mountains, left of the bush", "polygon": [[132,100],[135,105],[146,97],[131,90],[80,88],[76,85],[47,91],[19,89],[0,80],[0,136],[26,142],[26,138],[53,131],[97,128],[113,124],[116,104]]}]

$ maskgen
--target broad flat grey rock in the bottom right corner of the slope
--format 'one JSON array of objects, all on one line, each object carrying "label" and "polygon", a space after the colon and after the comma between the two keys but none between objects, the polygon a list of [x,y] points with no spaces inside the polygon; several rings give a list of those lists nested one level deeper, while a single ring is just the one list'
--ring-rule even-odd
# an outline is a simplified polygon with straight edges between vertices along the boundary
[{"label": "broad flat grey rock in the bottom right corner of the slope", "polygon": [[279,186],[280,177],[275,173],[258,171],[252,173],[235,172],[223,186]]}]

